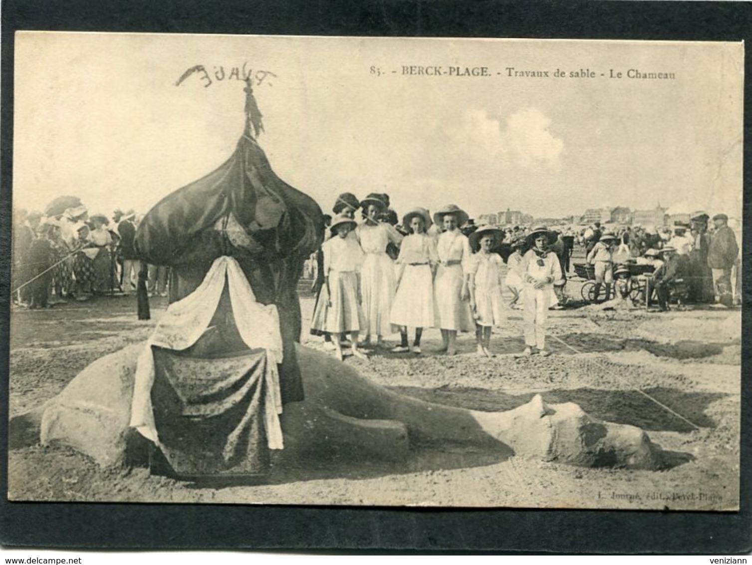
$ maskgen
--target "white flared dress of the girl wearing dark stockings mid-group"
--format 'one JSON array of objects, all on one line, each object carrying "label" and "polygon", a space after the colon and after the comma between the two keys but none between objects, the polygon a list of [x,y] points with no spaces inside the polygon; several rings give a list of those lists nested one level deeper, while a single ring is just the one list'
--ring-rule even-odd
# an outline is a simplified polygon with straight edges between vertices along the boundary
[{"label": "white flared dress of the girl wearing dark stockings mid-group", "polygon": [[407,235],[397,258],[402,278],[392,301],[392,324],[432,327],[435,324],[431,263],[438,257],[432,238],[424,233]]}]

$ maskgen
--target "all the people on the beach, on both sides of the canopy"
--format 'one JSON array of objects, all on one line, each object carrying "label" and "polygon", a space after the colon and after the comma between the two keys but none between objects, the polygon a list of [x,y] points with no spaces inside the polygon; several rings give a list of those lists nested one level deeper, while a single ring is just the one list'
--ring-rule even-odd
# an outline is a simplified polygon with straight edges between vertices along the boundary
[{"label": "all the people on the beach, on both sides of the canopy", "polygon": [[[491,329],[504,324],[509,309],[523,310],[523,354],[546,356],[547,311],[570,302],[576,245],[595,281],[594,302],[626,299],[633,266],[650,279],[644,299],[654,296],[660,311],[672,298],[718,307],[740,302],[740,254],[726,214],[711,219],[699,211],[690,223],[616,231],[599,223],[578,231],[478,226],[454,204],[399,218],[385,193],[362,200],[342,193],[325,220],[325,241],[306,266],[316,296],[311,333],[339,358],[347,347],[356,357],[373,347],[420,354],[425,328],[441,330],[441,351],[449,355],[458,333],[475,332],[478,354],[490,356]],[[17,211],[15,302],[44,308],[129,294],[138,278],[149,296],[166,296],[167,268],[138,260],[138,221],[133,210],[106,217],[83,205],[49,216]],[[387,345],[394,333],[399,344]]]}]

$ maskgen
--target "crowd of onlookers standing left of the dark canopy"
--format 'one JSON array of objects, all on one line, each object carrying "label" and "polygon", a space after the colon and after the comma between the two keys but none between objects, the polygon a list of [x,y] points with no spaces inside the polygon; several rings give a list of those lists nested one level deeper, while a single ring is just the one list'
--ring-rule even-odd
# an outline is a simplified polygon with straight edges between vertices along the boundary
[{"label": "crowd of onlookers standing left of the dark canopy", "polygon": [[89,215],[83,205],[49,216],[16,211],[14,302],[34,309],[135,293],[139,276],[150,296],[167,296],[167,269],[143,265],[136,256],[138,220],[133,210],[117,209],[107,217]]}]

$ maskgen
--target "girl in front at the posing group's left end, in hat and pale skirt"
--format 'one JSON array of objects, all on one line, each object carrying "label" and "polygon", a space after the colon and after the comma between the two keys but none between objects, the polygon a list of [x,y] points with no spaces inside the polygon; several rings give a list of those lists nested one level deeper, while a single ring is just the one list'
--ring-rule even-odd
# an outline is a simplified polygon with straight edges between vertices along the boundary
[{"label": "girl in front at the posing group's left end, in hat and pale skirt", "polygon": [[324,288],[314,311],[311,327],[329,333],[335,354],[342,359],[341,333],[350,334],[350,348],[355,357],[366,359],[358,350],[358,334],[365,327],[360,306],[359,269],[363,252],[356,238],[348,237],[356,222],[346,214],[332,220],[332,238],[324,241]]}]

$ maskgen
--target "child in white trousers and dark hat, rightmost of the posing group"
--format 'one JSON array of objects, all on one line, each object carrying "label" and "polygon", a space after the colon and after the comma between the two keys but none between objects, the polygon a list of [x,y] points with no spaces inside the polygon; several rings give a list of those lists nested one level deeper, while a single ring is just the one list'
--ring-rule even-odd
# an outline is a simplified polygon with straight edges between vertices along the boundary
[{"label": "child in white trousers and dark hat, rightmost of the posing group", "polygon": [[532,348],[538,348],[542,357],[546,351],[545,323],[548,308],[556,304],[553,283],[562,279],[559,258],[550,246],[556,235],[546,226],[536,226],[527,236],[530,250],[521,264],[523,272],[523,320],[525,323],[525,355],[532,355]]}]

